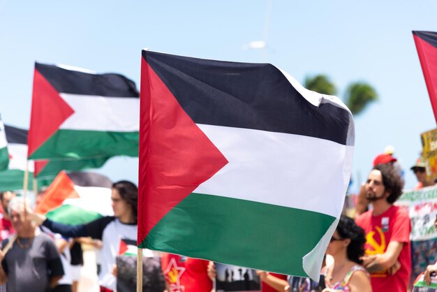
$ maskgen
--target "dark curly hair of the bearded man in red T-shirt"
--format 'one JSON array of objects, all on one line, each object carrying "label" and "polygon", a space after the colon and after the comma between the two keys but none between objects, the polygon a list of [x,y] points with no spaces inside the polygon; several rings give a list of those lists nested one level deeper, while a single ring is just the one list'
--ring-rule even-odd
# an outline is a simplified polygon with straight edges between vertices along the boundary
[{"label": "dark curly hair of the bearded man in red T-shirt", "polygon": [[403,189],[403,179],[399,174],[399,170],[391,166],[390,164],[378,164],[373,168],[379,170],[383,177],[383,184],[385,191],[390,192],[387,197],[387,202],[392,204],[401,196]]}]

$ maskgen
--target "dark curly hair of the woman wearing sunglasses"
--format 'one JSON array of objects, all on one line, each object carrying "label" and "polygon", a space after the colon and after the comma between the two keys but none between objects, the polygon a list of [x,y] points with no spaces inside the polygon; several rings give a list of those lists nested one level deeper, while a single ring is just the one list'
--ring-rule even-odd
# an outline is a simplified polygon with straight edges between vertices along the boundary
[{"label": "dark curly hair of the woman wearing sunglasses", "polygon": [[348,259],[361,265],[361,257],[364,256],[364,244],[366,243],[364,230],[353,219],[341,215],[336,231],[342,239],[350,239],[346,249]]}]

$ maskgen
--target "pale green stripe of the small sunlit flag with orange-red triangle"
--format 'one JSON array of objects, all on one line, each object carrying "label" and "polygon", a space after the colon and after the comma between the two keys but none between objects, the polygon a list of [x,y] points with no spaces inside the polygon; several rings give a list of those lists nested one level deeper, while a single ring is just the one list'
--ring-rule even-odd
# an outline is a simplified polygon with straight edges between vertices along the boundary
[{"label": "pale green stripe of the small sunlit flag with orange-red triangle", "polygon": [[52,221],[67,225],[87,224],[102,217],[97,212],[83,210],[75,205],[61,205],[47,212],[45,216]]}]

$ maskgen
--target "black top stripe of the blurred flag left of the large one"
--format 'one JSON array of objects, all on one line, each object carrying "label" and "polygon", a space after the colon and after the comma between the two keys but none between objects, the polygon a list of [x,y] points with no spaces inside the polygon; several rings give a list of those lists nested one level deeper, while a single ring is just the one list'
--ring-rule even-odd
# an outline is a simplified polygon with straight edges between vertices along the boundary
[{"label": "black top stripe of the blurred flag left of the large one", "polygon": [[35,63],[36,70],[59,93],[107,97],[139,97],[135,82],[124,75],[91,74]]}]

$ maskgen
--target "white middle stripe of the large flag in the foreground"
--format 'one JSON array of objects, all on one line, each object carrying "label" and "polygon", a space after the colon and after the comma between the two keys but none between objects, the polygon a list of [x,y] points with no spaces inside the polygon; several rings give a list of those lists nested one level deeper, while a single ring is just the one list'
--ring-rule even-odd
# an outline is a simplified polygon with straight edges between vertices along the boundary
[{"label": "white middle stripe of the large flag in the foreground", "polygon": [[341,214],[349,181],[343,173],[352,163],[353,147],[286,133],[198,126],[229,163],[193,192]]}]

